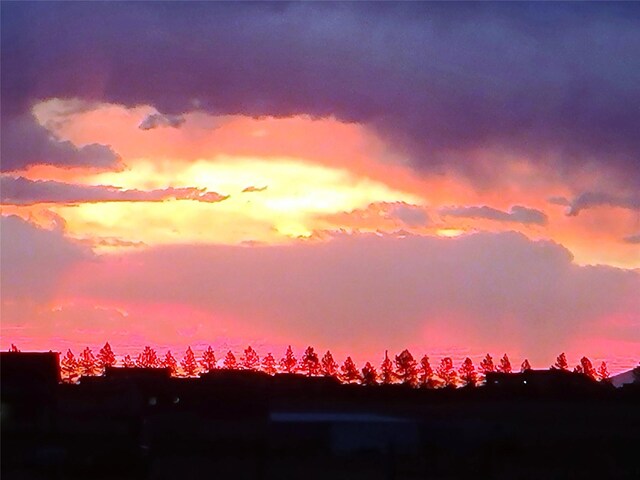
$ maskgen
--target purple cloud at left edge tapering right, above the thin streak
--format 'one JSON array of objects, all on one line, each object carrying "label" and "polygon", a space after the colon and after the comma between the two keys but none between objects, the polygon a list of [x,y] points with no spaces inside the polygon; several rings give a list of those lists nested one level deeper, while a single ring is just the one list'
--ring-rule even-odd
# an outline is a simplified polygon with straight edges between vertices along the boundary
[{"label": "purple cloud at left edge tapering right, above the thin streak", "polygon": [[[3,103],[4,95],[3,92]],[[71,142],[60,141],[39,125],[32,115],[24,114],[2,116],[0,160],[3,172],[38,163],[110,168],[117,164],[118,155],[107,145],[76,147]]]}]

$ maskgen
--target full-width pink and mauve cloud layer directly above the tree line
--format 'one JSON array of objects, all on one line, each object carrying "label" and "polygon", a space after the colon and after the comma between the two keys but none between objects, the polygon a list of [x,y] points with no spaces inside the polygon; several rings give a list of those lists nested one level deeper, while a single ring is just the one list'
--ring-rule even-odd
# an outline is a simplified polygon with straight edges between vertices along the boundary
[{"label": "full-width pink and mauve cloud layer directly above the tree line", "polygon": [[629,327],[640,312],[638,272],[581,267],[562,246],[519,234],[333,235],[90,257],[60,232],[13,217],[2,233],[5,342],[291,343],[360,359],[408,346],[435,357],[507,352],[541,367],[562,351],[623,365],[640,349],[640,330]]}]

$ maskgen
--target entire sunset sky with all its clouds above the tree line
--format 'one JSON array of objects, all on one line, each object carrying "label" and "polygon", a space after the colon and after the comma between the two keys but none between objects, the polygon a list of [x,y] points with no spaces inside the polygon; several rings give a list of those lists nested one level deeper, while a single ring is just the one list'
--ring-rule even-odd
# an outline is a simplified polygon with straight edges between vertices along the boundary
[{"label": "entire sunset sky with all its clouds above the tree line", "polygon": [[2,349],[640,360],[640,4],[1,8]]}]

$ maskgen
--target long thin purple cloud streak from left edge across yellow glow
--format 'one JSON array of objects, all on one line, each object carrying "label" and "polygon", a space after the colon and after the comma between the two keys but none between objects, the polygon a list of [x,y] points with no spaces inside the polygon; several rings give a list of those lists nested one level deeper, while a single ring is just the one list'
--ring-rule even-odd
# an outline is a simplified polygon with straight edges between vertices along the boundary
[{"label": "long thin purple cloud streak from left edge across yellow glow", "polygon": [[7,205],[35,203],[162,202],[195,200],[216,203],[229,198],[202,188],[163,188],[157,190],[123,190],[108,185],[76,185],[53,180],[28,180],[23,177],[0,177],[0,196]]}]

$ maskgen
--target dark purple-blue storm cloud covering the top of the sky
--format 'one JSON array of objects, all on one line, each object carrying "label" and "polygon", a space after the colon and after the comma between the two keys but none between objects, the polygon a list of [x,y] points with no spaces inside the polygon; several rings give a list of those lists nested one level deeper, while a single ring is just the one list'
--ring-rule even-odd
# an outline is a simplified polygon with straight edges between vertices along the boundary
[{"label": "dark purple-blue storm cloud covering the top of the sky", "polygon": [[376,128],[418,168],[482,173],[470,160],[481,149],[563,174],[606,165],[640,183],[640,4],[2,10],[3,120],[49,97],[174,115],[334,115]]}]

